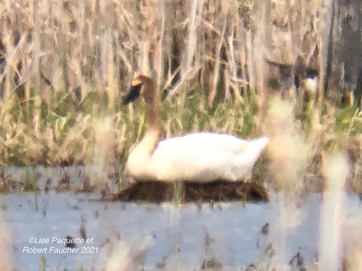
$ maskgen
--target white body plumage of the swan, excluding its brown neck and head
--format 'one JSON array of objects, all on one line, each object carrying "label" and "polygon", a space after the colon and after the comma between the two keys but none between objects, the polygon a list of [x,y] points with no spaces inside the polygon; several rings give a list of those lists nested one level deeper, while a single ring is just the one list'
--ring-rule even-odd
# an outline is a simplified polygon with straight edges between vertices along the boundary
[{"label": "white body plumage of the swan, excluding its brown neck and head", "polygon": [[245,141],[215,133],[169,138],[160,141],[151,156],[143,155],[136,146],[127,161],[127,170],[136,180],[237,181],[251,170],[268,141]]}]

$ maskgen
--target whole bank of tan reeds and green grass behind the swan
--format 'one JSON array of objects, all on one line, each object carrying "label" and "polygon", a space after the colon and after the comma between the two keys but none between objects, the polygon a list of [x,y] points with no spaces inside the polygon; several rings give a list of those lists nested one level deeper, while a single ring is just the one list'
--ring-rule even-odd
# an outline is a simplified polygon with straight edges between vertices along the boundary
[{"label": "whole bank of tan reeds and green grass behind the swan", "polygon": [[[357,108],[343,107],[338,92],[325,96],[303,82],[296,91],[280,78],[284,99],[270,104],[279,94],[265,60],[295,63],[292,74],[298,63],[319,67],[317,88],[324,86],[330,8],[319,1],[0,3],[0,163],[122,164],[142,137],[144,113],[121,99],[134,74],[146,73],[163,94],[166,137],[208,130],[286,140],[281,155],[303,161],[295,172],[313,190],[323,188],[323,151],[339,149],[353,162],[349,188],[362,192]],[[283,104],[287,112],[273,116]]]}]

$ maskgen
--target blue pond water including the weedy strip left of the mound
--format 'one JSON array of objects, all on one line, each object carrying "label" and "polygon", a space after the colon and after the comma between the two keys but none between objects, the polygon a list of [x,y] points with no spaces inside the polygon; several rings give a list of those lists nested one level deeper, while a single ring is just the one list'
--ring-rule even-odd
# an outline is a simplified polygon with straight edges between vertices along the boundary
[{"label": "blue pond water including the weedy strip left of the mound", "polygon": [[[11,194],[0,195],[0,251],[9,253],[5,267],[20,271],[244,270],[248,266],[249,270],[316,270],[321,229],[330,228],[325,233],[328,241],[339,231],[339,226],[334,227],[337,221],[342,238],[350,240],[344,233],[352,232],[362,243],[357,195],[342,193],[341,201],[332,195],[329,207],[320,194],[289,201],[271,194],[270,202],[211,206],[102,202],[99,194],[57,190],[67,179],[68,190],[80,191],[88,178],[108,182],[115,192],[117,172],[117,168],[94,166],[4,168],[3,178],[15,183]],[[35,182],[42,192],[17,193],[26,182]],[[321,225],[321,221],[327,222]],[[67,236],[78,238],[69,250],[62,244]]]}]

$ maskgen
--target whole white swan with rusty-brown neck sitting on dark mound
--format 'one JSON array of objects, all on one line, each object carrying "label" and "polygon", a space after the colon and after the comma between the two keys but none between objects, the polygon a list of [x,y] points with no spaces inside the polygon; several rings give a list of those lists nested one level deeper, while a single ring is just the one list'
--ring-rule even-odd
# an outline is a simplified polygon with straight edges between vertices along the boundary
[{"label": "whole white swan with rusty-brown neck sitting on dark mound", "polygon": [[269,139],[246,141],[227,134],[192,133],[160,141],[160,98],[152,78],[135,77],[123,100],[146,101],[146,133],[129,154],[125,171],[136,181],[238,181],[251,170]]}]

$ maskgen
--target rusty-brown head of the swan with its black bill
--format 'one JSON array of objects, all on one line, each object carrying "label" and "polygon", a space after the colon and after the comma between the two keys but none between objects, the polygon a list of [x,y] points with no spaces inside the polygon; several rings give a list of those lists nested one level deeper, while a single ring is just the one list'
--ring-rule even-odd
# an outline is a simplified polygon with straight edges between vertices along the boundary
[{"label": "rusty-brown head of the swan with its black bill", "polygon": [[151,77],[140,74],[133,78],[129,93],[123,99],[123,104],[129,104],[139,96],[142,96],[146,103],[153,102],[155,98],[155,86]]}]

